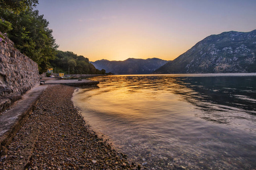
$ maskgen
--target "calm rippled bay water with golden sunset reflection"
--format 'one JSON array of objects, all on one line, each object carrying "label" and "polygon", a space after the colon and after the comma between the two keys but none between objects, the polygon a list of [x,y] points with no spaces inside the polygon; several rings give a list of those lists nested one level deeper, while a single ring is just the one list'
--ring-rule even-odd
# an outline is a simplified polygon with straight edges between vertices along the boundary
[{"label": "calm rippled bay water with golden sunset reflection", "polygon": [[256,74],[112,75],[73,96],[92,129],[149,169],[255,169]]}]

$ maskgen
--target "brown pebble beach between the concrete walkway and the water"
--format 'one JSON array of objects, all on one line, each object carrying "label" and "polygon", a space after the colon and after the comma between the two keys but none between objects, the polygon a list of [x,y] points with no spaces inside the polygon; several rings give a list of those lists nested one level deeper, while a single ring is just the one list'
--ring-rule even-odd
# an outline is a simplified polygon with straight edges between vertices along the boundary
[{"label": "brown pebble beach between the concrete walkway and the water", "polygon": [[74,90],[48,85],[0,169],[141,169],[90,129],[73,106]]}]

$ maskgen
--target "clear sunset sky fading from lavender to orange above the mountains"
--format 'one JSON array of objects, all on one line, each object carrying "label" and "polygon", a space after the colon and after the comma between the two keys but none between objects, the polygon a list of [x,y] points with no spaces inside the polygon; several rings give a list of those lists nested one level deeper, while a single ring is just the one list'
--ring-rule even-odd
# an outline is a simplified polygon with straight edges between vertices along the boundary
[{"label": "clear sunset sky fading from lavender to orange above the mountains", "polygon": [[256,29],[255,0],[39,0],[59,50],[90,61],[173,60],[210,35]]}]

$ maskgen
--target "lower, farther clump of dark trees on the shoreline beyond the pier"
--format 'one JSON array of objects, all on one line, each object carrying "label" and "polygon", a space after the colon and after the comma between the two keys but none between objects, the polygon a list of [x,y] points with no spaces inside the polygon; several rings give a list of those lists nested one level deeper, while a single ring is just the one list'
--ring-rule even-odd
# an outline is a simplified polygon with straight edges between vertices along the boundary
[{"label": "lower, farther clump of dark trees on the shoreline beyond the pier", "polygon": [[73,52],[57,51],[56,58],[50,61],[54,73],[68,74],[105,74],[105,70],[96,69],[89,59],[77,56]]}]

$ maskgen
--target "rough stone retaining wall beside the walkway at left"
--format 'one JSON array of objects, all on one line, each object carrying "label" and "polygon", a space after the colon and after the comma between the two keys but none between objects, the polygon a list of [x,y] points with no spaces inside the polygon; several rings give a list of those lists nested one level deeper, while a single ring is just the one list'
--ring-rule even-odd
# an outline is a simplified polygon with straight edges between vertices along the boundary
[{"label": "rough stone retaining wall beside the walkway at left", "polygon": [[[13,96],[20,96],[39,84],[38,65],[14,48],[14,42],[3,36],[0,41],[0,112]],[[1,106],[1,103],[3,105]]]}]

